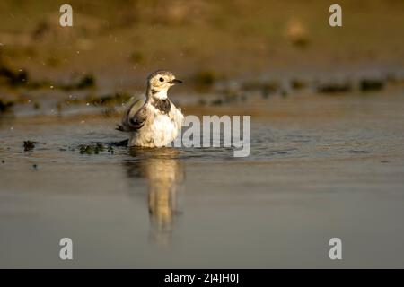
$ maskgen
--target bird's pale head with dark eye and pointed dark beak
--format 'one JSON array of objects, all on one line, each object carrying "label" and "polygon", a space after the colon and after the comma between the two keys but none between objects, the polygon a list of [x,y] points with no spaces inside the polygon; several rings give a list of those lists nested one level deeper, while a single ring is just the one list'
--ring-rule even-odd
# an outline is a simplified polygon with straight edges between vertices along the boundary
[{"label": "bird's pale head with dark eye and pointed dark beak", "polygon": [[166,99],[167,91],[176,83],[182,83],[177,80],[169,71],[156,71],[147,78],[147,97],[156,99]]}]

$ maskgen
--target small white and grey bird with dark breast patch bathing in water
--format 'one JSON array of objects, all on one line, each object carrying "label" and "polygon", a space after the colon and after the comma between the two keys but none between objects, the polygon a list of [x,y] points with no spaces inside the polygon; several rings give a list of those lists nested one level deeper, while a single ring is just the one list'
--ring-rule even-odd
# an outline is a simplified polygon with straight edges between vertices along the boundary
[{"label": "small white and grey bird with dark breast patch bathing in water", "polygon": [[147,77],[145,102],[131,103],[117,130],[130,134],[128,146],[164,147],[172,143],[184,121],[180,109],[169,100],[171,86],[182,83],[170,71],[158,70]]}]

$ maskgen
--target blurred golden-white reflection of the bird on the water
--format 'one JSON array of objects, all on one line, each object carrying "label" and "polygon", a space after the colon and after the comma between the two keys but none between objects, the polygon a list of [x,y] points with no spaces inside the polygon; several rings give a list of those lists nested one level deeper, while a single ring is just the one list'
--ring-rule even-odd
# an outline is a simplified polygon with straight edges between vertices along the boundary
[{"label": "blurred golden-white reflection of the bird on the water", "polygon": [[147,180],[147,204],[151,222],[150,239],[159,245],[171,240],[175,218],[180,213],[180,194],[185,171],[178,159],[180,151],[173,148],[131,148],[134,161],[128,161],[129,178]]}]

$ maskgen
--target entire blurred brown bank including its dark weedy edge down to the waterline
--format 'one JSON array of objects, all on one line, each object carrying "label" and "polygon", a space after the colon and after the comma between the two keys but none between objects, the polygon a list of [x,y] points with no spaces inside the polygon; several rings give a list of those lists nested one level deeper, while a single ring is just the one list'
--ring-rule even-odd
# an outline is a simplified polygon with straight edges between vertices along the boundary
[{"label": "entire blurred brown bank including its dark weedy edge down to the waterline", "polygon": [[323,0],[75,0],[73,27],[59,25],[62,4],[0,3],[0,113],[82,104],[119,116],[157,69],[184,80],[173,94],[198,109],[404,83],[401,0],[339,1],[342,27],[330,27],[334,2]]}]

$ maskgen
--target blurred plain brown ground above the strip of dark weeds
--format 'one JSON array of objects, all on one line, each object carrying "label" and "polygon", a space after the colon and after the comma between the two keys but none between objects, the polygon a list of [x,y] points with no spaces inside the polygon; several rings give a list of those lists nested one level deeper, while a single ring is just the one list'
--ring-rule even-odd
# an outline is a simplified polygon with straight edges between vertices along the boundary
[{"label": "blurred plain brown ground above the strip of dark weeds", "polygon": [[61,27],[65,1],[0,2],[0,57],[32,77],[91,73],[143,83],[158,68],[184,78],[333,71],[404,65],[404,1],[79,1]]}]

